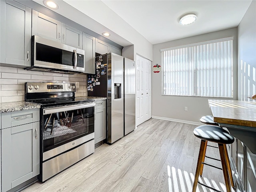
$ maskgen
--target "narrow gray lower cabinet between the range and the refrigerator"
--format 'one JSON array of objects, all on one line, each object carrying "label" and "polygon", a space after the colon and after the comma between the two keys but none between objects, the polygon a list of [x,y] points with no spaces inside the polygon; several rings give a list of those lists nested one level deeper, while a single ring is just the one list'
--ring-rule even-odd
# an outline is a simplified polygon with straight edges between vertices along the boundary
[{"label": "narrow gray lower cabinet between the range and the refrigerator", "polygon": [[95,101],[94,137],[95,144],[106,138],[106,101]]}]

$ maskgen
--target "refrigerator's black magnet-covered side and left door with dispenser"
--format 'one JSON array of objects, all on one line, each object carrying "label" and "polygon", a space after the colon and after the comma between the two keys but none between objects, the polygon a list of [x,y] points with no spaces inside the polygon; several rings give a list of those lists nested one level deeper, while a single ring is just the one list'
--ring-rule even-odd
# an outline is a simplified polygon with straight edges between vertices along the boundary
[{"label": "refrigerator's black magnet-covered side and left door with dispenser", "polygon": [[111,53],[96,57],[96,73],[88,75],[88,96],[107,98],[109,144],[124,136],[124,57]]}]

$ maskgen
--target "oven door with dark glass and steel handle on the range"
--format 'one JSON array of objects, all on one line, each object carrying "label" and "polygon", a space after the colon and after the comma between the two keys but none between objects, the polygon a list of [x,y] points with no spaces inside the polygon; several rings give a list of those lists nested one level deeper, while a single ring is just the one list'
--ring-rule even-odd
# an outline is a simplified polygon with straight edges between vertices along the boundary
[{"label": "oven door with dark glass and steel handle on the range", "polygon": [[[43,153],[94,133],[95,103],[43,109]],[[92,139],[92,138],[90,138]],[[55,154],[56,155],[56,154]],[[44,160],[50,157],[44,157]]]}]

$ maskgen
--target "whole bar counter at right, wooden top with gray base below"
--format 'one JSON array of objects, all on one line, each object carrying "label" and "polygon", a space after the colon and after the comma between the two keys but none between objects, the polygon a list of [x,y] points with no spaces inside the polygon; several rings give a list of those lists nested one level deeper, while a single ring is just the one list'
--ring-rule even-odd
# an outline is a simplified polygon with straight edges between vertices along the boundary
[{"label": "whole bar counter at right, wooden top with gray base below", "polygon": [[208,100],[214,122],[234,136],[230,149],[240,191],[256,192],[256,101]]}]

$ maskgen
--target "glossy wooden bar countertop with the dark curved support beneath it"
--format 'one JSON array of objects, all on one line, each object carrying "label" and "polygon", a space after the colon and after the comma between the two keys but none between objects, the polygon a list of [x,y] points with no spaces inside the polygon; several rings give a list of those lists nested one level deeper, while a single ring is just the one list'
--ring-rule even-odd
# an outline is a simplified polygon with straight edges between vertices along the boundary
[{"label": "glossy wooden bar countertop with the dark curved support beneath it", "polygon": [[256,102],[209,99],[208,103],[214,122],[228,128],[256,154]]}]

